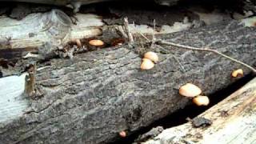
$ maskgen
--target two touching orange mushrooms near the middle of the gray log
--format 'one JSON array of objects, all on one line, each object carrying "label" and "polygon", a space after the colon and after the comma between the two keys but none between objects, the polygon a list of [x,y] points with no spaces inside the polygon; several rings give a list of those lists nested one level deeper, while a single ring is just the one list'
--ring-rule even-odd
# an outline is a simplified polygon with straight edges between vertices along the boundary
[{"label": "two touching orange mushrooms near the middle of the gray log", "polygon": [[142,70],[150,70],[154,67],[154,63],[158,62],[158,54],[149,51],[144,54],[144,58],[142,58]]}]

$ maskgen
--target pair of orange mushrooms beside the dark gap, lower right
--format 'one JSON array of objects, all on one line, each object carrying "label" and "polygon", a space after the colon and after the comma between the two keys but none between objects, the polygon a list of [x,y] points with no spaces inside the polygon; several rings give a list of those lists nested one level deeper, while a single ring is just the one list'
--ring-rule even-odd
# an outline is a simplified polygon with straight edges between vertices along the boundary
[{"label": "pair of orange mushrooms beside the dark gap, lower right", "polygon": [[192,83],[186,83],[185,85],[181,86],[178,92],[182,96],[193,98],[193,102],[197,106],[207,106],[210,103],[207,96],[200,95],[202,94],[202,90]]}]

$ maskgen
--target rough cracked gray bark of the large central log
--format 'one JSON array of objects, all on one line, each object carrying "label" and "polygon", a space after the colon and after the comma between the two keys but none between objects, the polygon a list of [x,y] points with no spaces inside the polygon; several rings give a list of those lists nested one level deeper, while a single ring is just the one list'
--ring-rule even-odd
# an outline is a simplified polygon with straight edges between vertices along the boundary
[{"label": "rough cracked gray bark of the large central log", "polygon": [[[190,46],[210,46],[255,66],[256,30],[223,22],[159,36]],[[137,49],[137,48],[136,48]],[[193,82],[205,94],[228,86],[241,66],[214,54],[157,47],[160,62],[140,70],[141,58],[126,46],[52,59],[36,79],[42,98],[31,112],[0,122],[0,143],[103,143],[129,134],[190,103],[178,87]],[[245,74],[248,74],[248,70]]]}]

